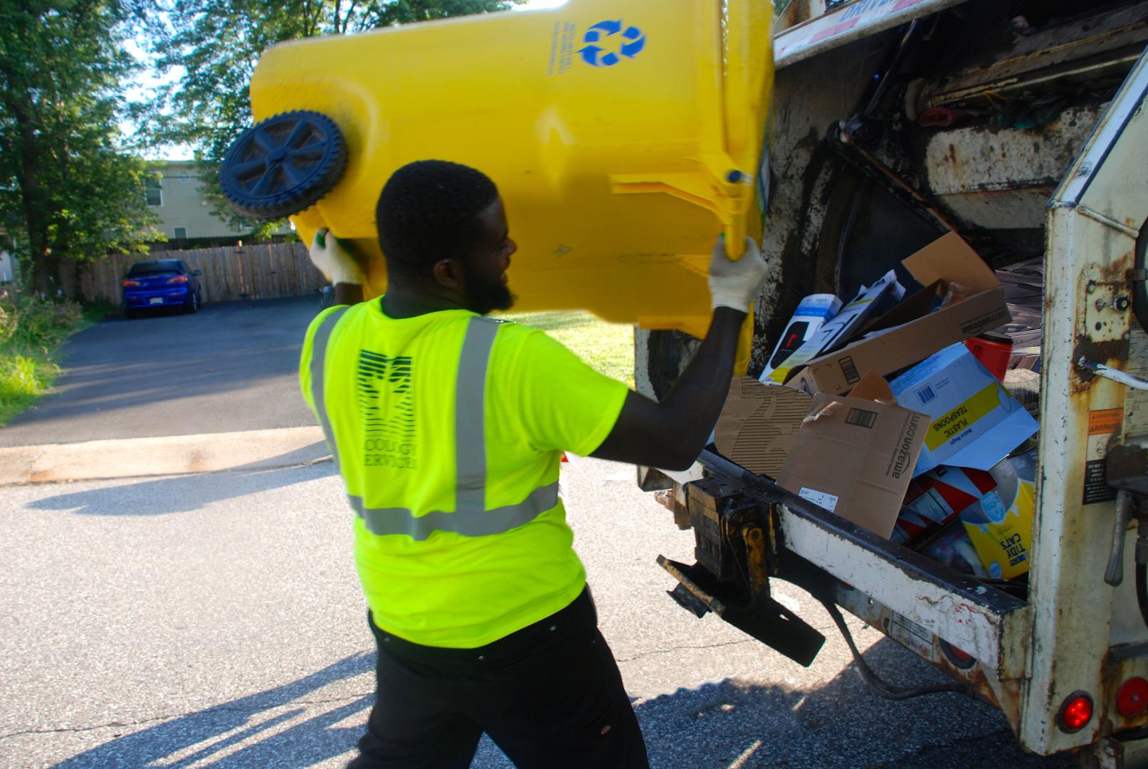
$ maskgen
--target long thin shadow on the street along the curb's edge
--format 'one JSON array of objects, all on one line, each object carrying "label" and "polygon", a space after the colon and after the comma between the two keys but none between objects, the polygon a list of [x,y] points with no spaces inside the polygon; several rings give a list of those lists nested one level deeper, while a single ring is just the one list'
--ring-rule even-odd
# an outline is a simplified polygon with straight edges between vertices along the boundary
[{"label": "long thin shadow on the street along the curb's edge", "polygon": [[[276,458],[277,463],[294,464],[312,460],[326,453],[320,441]],[[255,469],[240,466],[201,475],[177,475],[148,481],[107,486],[86,491],[59,494],[29,503],[30,510],[69,511],[77,515],[130,516],[168,515],[199,510],[225,499],[281,489],[335,474],[334,463],[309,465],[304,472],[295,467]]]}]

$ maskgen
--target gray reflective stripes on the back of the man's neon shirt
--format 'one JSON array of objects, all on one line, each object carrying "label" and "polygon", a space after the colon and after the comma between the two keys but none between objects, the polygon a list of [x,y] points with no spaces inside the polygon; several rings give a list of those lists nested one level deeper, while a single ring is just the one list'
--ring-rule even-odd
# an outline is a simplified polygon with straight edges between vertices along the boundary
[{"label": "gray reflective stripes on the back of the man's neon shirt", "polygon": [[[339,449],[323,401],[323,364],[331,332],[347,308],[327,316],[315,332],[311,354],[311,395],[331,455],[339,467]],[[515,505],[486,510],[487,453],[483,424],[487,365],[501,321],[475,316],[466,327],[458,360],[455,402],[455,512],[432,511],[414,515],[406,507],[366,507],[363,497],[348,495],[351,508],[373,534],[405,534],[426,539],[433,531],[453,531],[468,537],[502,534],[529,523],[558,504],[558,482],[532,491]]]}]

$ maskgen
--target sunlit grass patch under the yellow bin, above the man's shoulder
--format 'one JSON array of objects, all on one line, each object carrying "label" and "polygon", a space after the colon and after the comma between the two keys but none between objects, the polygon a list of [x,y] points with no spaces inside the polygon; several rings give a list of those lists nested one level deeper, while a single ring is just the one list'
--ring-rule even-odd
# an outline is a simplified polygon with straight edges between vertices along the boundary
[{"label": "sunlit grass patch under the yellow bin, above the man's shoulder", "polygon": [[634,327],[589,312],[506,312],[502,317],[544,331],[595,371],[634,387]]}]

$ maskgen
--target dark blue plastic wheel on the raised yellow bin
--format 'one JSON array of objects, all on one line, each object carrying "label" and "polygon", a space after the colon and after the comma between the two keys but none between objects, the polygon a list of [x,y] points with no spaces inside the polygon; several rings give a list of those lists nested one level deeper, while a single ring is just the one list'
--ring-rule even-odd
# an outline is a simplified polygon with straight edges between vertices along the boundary
[{"label": "dark blue plastic wheel on the raised yellow bin", "polygon": [[240,215],[281,219],[331,192],[346,168],[347,142],[335,122],[295,110],[245,131],[219,166],[219,185]]}]

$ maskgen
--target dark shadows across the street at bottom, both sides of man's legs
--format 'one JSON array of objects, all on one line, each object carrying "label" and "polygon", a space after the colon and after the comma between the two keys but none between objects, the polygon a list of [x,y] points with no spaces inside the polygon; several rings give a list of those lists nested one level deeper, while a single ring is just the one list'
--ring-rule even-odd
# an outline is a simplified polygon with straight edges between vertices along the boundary
[{"label": "dark shadows across the street at bottom, both sides of man's legs", "polygon": [[[874,666],[897,665],[900,675],[891,677],[901,684],[941,677],[889,639],[864,657]],[[310,704],[308,697],[321,686],[370,674],[373,666],[373,653],[349,657],[285,686],[117,737],[54,769],[179,768],[193,762],[220,769],[310,767],[354,749],[373,696],[340,699],[331,710],[261,735],[298,717]],[[264,717],[270,708],[288,709]],[[957,694],[881,700],[861,684],[852,665],[814,690],[727,679],[639,701],[635,710],[654,769],[1076,767],[1070,755],[1025,754],[1003,716],[984,702]],[[351,716],[354,725],[339,725]],[[239,751],[217,755],[240,744]],[[472,768],[512,764],[484,737]]]}]

